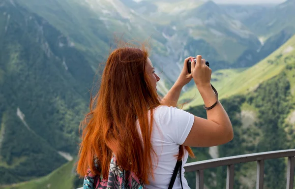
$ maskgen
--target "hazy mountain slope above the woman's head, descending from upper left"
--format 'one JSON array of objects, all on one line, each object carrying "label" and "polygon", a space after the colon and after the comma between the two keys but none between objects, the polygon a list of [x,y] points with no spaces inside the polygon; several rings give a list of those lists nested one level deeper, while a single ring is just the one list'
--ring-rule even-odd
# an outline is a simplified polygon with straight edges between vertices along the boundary
[{"label": "hazy mountain slope above the woman's head, descending from upper left", "polygon": [[42,16],[72,39],[79,49],[88,53],[89,57],[99,63],[107,57],[113,42],[113,34],[118,32],[118,29],[119,35],[126,32],[126,38],[134,36],[135,33],[144,39],[152,34],[157,35],[151,27],[143,30],[141,27],[148,25],[148,21],[131,12],[119,0],[114,0],[114,3],[107,0],[99,2],[96,0],[47,0],[46,2],[17,0],[17,2]]}]

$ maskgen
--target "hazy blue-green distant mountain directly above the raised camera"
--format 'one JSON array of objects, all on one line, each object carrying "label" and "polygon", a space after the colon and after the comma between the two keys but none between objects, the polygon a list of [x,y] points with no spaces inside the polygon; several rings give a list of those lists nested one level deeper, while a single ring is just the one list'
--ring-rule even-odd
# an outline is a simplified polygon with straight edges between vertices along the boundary
[{"label": "hazy blue-green distant mountain directly above the raised camera", "polygon": [[[202,54],[215,62],[214,69],[240,67],[236,60],[246,49],[261,47],[257,36],[213,1],[143,0],[130,7],[158,24],[180,59]],[[177,40],[180,45],[173,45]]]}]

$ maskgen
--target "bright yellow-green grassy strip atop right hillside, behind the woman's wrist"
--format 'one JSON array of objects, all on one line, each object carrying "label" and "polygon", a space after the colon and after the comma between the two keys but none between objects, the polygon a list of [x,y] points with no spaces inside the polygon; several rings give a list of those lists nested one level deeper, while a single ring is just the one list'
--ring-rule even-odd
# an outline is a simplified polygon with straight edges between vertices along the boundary
[{"label": "bright yellow-green grassy strip atop right hillside, behind the woman's wrist", "polygon": [[[291,37],[266,59],[239,74],[235,74],[235,72],[228,74],[227,70],[213,73],[211,83],[218,91],[220,99],[249,93],[255,90],[262,82],[281,73],[288,63],[294,61],[294,51],[295,36]],[[220,77],[221,74],[223,77]],[[202,97],[195,86],[191,87],[180,97],[181,102],[187,102],[190,99],[192,100],[184,105],[185,109],[189,106],[203,104]]]}]

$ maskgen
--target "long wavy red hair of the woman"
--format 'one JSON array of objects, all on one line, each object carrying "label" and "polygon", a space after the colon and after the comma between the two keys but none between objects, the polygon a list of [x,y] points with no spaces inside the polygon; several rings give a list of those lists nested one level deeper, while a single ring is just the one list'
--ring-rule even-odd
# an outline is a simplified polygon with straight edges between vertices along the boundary
[{"label": "long wavy red hair of the woman", "polygon": [[[118,165],[134,172],[142,182],[148,184],[149,176],[154,178],[152,120],[153,110],[161,101],[148,80],[147,59],[145,45],[117,48],[107,59],[99,91],[91,97],[90,112],[80,125],[84,128],[77,162],[77,173],[81,177],[87,175],[90,168],[92,174],[102,173],[107,179],[114,153]],[[193,156],[192,150],[185,148]],[[179,155],[178,159],[184,155],[182,146]],[[98,169],[94,166],[94,157],[98,160]]]}]

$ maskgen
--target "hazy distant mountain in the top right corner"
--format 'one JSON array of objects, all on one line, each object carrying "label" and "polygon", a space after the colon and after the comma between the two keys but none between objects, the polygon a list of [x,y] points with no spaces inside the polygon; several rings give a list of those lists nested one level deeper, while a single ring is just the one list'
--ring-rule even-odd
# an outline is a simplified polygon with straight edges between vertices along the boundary
[{"label": "hazy distant mountain in the top right corner", "polygon": [[[236,60],[241,66],[251,66],[266,58],[283,45],[295,34],[294,18],[291,9],[295,8],[294,0],[288,0],[279,5],[220,5],[229,15],[239,20],[254,32],[261,41],[258,50],[247,49]],[[281,11],[283,13],[281,13]],[[276,20],[275,26],[267,22]]]}]

